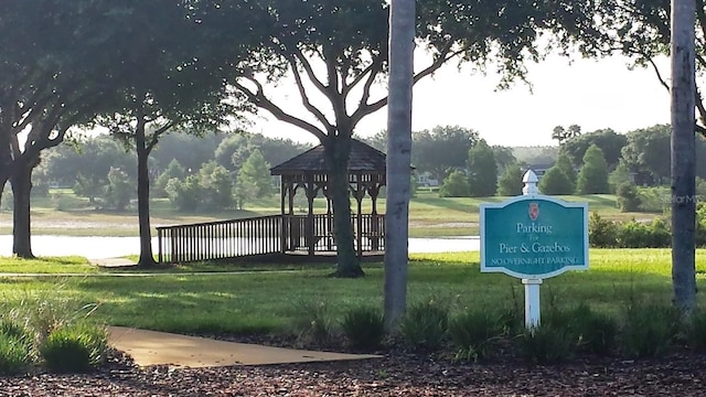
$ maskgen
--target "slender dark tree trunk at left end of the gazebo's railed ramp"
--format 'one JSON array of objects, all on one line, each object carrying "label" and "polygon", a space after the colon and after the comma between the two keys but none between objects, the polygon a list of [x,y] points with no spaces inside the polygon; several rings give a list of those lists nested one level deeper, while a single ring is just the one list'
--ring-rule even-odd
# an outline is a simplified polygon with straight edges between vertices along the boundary
[{"label": "slender dark tree trunk at left end of the gazebo's railed ramp", "polygon": [[150,229],[150,175],[148,169],[149,150],[145,138],[145,119],[138,120],[135,131],[137,143],[137,208],[140,227],[139,267],[153,267],[152,230]]}]

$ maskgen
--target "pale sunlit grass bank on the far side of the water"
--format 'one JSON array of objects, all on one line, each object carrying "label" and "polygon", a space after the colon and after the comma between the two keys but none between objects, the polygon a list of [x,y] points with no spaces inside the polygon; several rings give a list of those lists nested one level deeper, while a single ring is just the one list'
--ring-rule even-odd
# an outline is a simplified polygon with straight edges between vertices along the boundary
[{"label": "pale sunlit grass bank on the far side of the water", "polygon": [[[57,200],[35,197],[32,200],[32,233],[35,235],[68,236],[137,236],[138,218],[135,205],[126,212],[99,211],[84,197],[76,197],[69,190],[53,192],[71,197],[73,205],[57,210]],[[306,212],[306,201],[297,196],[295,213]],[[500,202],[507,197],[439,197],[438,192],[418,191],[409,204],[410,237],[443,237],[479,235],[479,208],[482,203]],[[652,219],[660,214],[621,213],[616,205],[616,196],[593,194],[579,196],[558,196],[569,202],[588,203],[589,212],[598,212],[606,219],[630,221]],[[385,197],[378,200],[378,212],[385,213]],[[363,213],[371,212],[371,201],[363,201]],[[357,211],[352,201],[351,208]],[[248,203],[242,211],[221,211],[213,213],[185,214],[174,211],[167,198],[153,198],[150,203],[152,226],[183,225],[211,221],[234,219],[280,213],[278,195],[256,203]],[[314,212],[325,213],[327,203],[322,197],[314,201]],[[12,214],[0,212],[0,234],[11,234]]]}]

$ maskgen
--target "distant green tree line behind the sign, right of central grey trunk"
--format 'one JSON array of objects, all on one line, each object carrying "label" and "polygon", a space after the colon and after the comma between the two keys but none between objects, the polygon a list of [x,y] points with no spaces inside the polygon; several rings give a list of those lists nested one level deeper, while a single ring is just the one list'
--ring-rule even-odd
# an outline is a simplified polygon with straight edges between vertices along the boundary
[{"label": "distant green tree line behind the sign, right of central grey trunk", "polygon": [[[670,126],[655,125],[627,133],[600,129],[581,133],[579,126],[556,127],[557,147],[491,147],[478,132],[437,127],[415,132],[413,159],[417,173],[442,181],[441,196],[516,195],[527,169],[542,169],[545,194],[621,193],[628,207],[639,186],[670,181]],[[560,139],[559,139],[560,138]],[[435,155],[425,154],[427,148]],[[463,149],[463,150],[461,150]],[[706,140],[696,139],[696,176],[706,180]]]}]

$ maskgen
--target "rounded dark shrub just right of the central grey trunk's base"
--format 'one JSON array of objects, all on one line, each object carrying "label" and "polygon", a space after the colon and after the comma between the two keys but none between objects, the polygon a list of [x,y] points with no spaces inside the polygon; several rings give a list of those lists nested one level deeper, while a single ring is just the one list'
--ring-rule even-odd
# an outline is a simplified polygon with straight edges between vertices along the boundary
[{"label": "rounded dark shrub just right of the central grey trunk's base", "polygon": [[438,350],[446,336],[449,310],[430,300],[413,304],[399,324],[407,344],[415,348]]}]

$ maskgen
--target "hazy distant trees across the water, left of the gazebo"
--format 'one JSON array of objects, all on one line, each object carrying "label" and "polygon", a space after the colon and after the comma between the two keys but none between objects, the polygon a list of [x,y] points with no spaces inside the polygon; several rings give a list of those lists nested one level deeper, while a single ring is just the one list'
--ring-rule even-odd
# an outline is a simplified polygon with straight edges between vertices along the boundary
[{"label": "hazy distant trees across the water, left of the gazebo", "polygon": [[[309,147],[244,131],[175,132],[150,153],[150,189],[178,211],[243,208],[275,192],[271,165]],[[113,136],[83,137],[47,150],[32,183],[35,196],[47,195],[51,186],[71,187],[96,208],[125,211],[137,198],[136,154]]]}]

